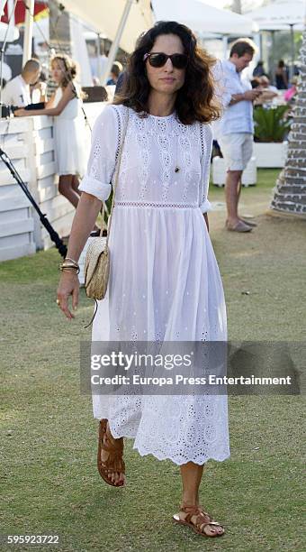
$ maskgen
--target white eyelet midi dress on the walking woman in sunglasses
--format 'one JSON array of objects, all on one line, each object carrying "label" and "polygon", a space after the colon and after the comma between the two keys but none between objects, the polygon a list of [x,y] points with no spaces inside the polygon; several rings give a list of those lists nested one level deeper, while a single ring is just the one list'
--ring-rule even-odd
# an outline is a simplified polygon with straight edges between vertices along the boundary
[{"label": "white eyelet midi dress on the walking woman in sunglasses", "polygon": [[[105,106],[93,131],[79,189],[111,193],[125,106]],[[98,302],[93,341],[226,341],[220,272],[202,213],[211,127],[176,115],[140,118],[130,109],[109,238],[108,290]],[[175,172],[175,168],[179,171]],[[175,352],[174,352],[175,353]],[[140,455],[176,465],[229,457],[225,395],[93,394],[94,418],[113,437],[134,438]]]}]

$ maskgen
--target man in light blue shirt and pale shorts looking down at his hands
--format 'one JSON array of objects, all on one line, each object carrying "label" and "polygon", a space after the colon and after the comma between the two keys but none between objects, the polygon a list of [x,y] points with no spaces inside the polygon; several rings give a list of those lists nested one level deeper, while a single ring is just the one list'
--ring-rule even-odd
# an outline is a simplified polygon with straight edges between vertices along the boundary
[{"label": "man in light blue shirt and pale shorts looking down at his hands", "polygon": [[252,90],[250,82],[241,78],[256,51],[254,42],[248,39],[235,41],[229,52],[229,60],[218,62],[214,68],[216,94],[223,106],[223,114],[214,123],[214,136],[227,165],[225,197],[228,209],[226,227],[235,232],[250,232],[255,223],[238,216],[238,200],[243,170],[253,152],[253,101],[261,89]]}]

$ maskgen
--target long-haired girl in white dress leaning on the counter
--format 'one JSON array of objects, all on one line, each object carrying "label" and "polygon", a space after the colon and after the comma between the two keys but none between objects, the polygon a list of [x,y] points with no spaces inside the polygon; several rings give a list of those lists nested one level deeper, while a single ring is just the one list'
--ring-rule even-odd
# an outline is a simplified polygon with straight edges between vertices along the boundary
[{"label": "long-haired girl in white dress leaning on the counter", "polygon": [[18,109],[14,115],[55,117],[54,142],[59,176],[58,190],[76,207],[80,197],[78,177],[84,176],[87,162],[81,90],[75,82],[76,63],[66,54],[57,54],[51,60],[51,71],[58,88],[45,108],[31,112]]}]

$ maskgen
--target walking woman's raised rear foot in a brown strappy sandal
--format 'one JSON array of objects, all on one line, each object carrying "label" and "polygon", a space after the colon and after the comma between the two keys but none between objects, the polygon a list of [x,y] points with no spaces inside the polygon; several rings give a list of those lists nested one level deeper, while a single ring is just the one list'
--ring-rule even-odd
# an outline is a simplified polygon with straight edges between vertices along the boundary
[{"label": "walking woman's raised rear foot in a brown strappy sandal", "polygon": [[97,464],[105,483],[114,487],[124,485],[123,437],[112,437],[107,419],[100,420]]}]

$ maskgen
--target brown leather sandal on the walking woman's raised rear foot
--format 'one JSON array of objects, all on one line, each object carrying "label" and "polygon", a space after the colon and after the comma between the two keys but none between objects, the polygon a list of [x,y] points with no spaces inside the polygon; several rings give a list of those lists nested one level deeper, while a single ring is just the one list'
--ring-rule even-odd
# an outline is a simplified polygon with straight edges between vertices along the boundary
[{"label": "brown leather sandal on the walking woman's raised rear foot", "polygon": [[[107,444],[103,440],[106,434],[109,441]],[[101,459],[102,450],[109,453],[104,461]],[[112,487],[122,487],[124,485],[124,483],[113,483],[110,478],[110,475],[115,472],[125,474],[125,464],[122,455],[123,437],[121,439],[114,439],[107,431],[107,419],[101,419],[99,424],[97,465],[103,481],[112,485]]]}]

